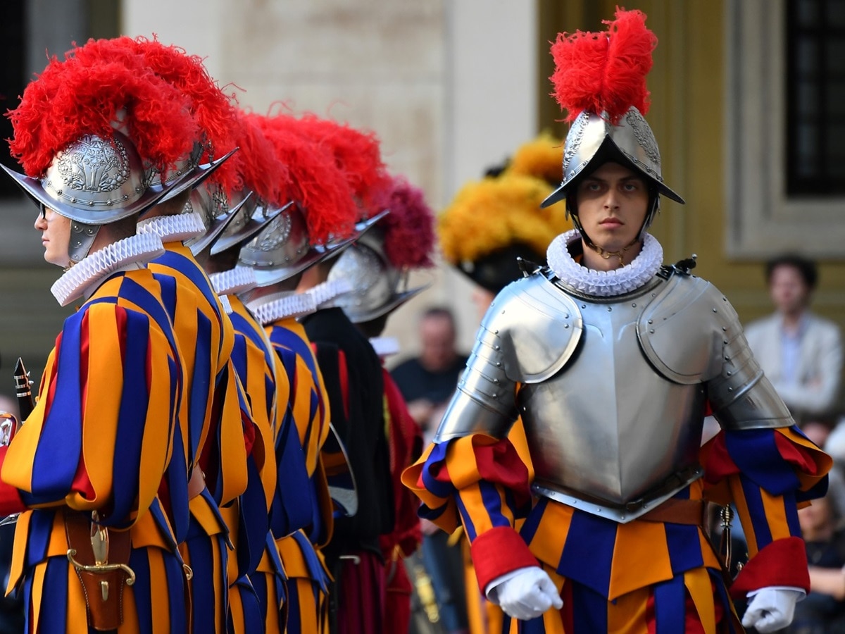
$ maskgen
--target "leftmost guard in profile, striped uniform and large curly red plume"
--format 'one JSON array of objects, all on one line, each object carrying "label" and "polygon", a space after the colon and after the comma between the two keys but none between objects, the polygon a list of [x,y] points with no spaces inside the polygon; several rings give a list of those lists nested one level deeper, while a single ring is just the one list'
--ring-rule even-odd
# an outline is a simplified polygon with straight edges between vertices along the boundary
[{"label": "leftmost guard in profile, striped uniform and large curly red plume", "polygon": [[[183,178],[197,135],[188,100],[150,70],[52,58],[10,113],[7,172],[41,209],[52,292],[78,303],[47,358],[40,397],[3,448],[0,511],[22,511],[9,589],[26,630],[186,632],[186,569],[171,518],[188,512],[183,366],[161,288],[164,253],[139,214]],[[4,167],[4,169],[6,169]]]}]

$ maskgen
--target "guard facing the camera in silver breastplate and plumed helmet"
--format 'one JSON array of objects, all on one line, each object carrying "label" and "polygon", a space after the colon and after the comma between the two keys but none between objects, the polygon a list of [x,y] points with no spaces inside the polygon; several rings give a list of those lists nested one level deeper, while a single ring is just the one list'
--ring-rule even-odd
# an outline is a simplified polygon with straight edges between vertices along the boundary
[{"label": "guard facing the camera in silver breastplate and plumed helmet", "polygon": [[[643,118],[655,44],[622,10],[606,33],[554,43],[572,126],[544,204],[565,199],[576,228],[495,298],[403,476],[424,516],[463,523],[507,631],[742,631],[705,500],[739,510],[750,561],[730,591],[750,599],[746,626],[788,625],[809,589],[796,506],[820,495],[830,458],[793,425],[727,298],[691,261],[662,265],[647,232],[660,195],[681,202]],[[700,451],[708,413],[722,431]],[[532,484],[506,440],[517,416]]]}]

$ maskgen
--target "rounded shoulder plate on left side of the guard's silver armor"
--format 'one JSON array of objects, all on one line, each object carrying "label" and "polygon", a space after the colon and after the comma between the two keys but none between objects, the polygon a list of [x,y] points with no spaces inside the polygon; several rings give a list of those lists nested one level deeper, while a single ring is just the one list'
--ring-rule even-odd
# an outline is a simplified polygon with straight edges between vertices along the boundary
[{"label": "rounded shoulder plate on left side of the guard's silver armor", "polygon": [[575,300],[537,273],[499,293],[484,317],[482,330],[491,339],[493,350],[501,353],[508,379],[540,383],[570,359],[581,339],[583,323]]}]

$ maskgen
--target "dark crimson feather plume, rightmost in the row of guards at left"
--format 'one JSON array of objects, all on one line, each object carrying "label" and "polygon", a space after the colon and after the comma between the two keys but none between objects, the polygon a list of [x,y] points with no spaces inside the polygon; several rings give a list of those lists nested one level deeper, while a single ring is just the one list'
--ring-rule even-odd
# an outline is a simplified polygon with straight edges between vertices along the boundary
[{"label": "dark crimson feather plume, rightmost in the row of guards at left", "polygon": [[384,231],[384,255],[395,269],[419,269],[434,265],[434,213],[423,190],[401,176],[377,196],[379,209],[390,213],[379,221]]}]

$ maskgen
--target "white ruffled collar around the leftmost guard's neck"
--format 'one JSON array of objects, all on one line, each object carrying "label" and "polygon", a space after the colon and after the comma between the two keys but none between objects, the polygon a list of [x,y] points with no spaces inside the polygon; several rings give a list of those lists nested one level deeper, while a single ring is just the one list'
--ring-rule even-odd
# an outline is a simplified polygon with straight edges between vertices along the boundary
[{"label": "white ruffled collar around the leftmost guard's neck", "polygon": [[150,260],[165,254],[155,233],[130,236],[111,243],[79,260],[65,271],[51,287],[53,297],[62,306],[79,298],[90,297],[99,281],[117,271],[142,268]]}]

